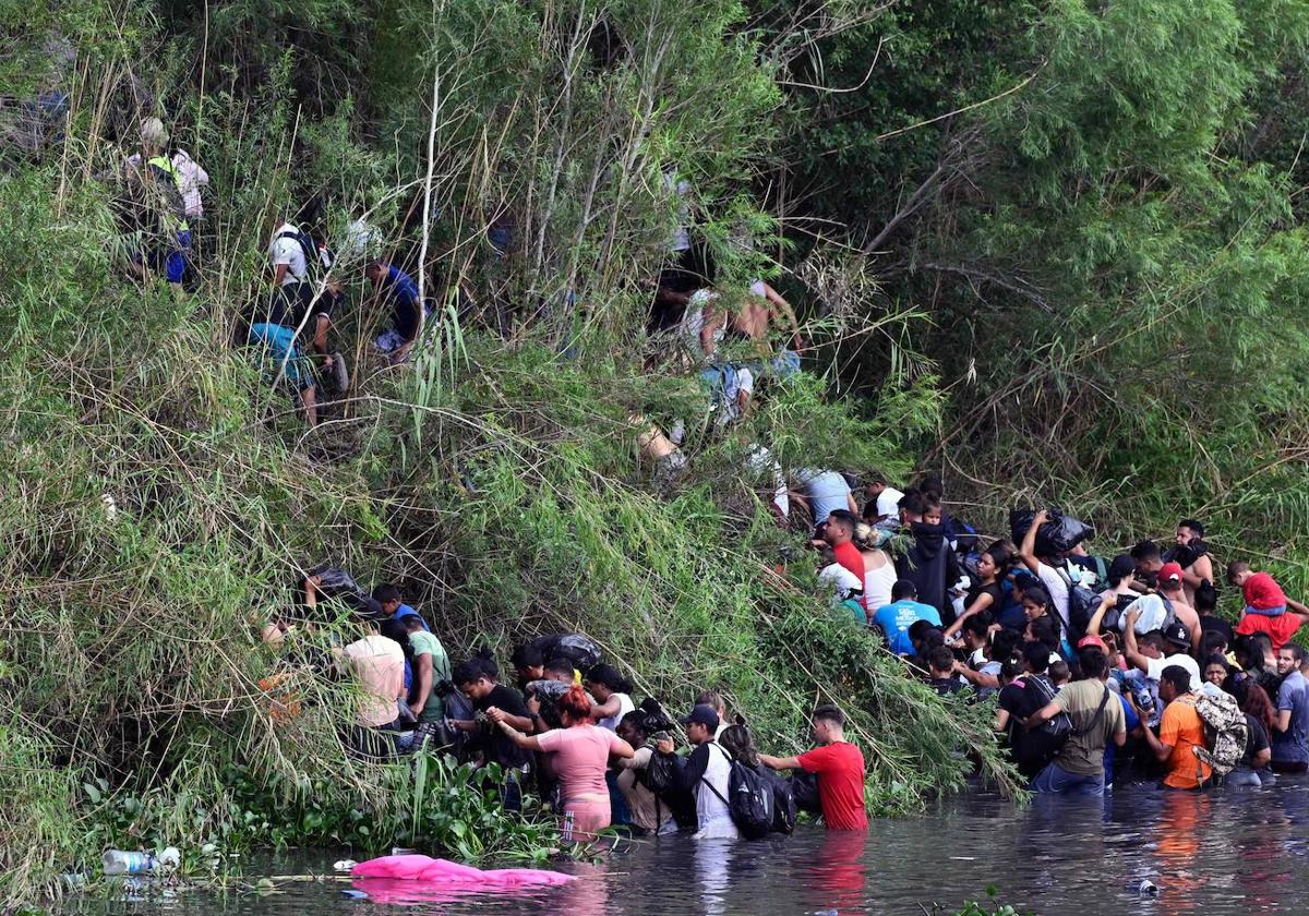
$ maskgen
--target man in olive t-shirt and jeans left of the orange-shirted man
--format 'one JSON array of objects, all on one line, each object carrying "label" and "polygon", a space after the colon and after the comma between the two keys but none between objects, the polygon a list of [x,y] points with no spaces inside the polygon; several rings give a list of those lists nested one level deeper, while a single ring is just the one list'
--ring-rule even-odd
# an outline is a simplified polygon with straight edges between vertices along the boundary
[{"label": "man in olive t-shirt and jeans left of the orange-shirted man", "polygon": [[1056,716],[1069,718],[1068,737],[1055,759],[1037,775],[1033,792],[1058,796],[1105,794],[1105,746],[1127,743],[1123,704],[1106,683],[1105,653],[1088,646],[1077,654],[1081,680],[1063,687],[1046,705],[1028,717],[1029,729],[1041,728]]}]

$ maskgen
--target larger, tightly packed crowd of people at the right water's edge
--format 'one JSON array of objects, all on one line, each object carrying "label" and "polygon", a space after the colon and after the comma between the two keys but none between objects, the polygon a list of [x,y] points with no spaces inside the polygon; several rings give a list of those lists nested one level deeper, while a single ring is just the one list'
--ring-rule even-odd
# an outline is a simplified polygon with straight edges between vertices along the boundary
[{"label": "larger, tightly packed crowd of people at the right water's edge", "polygon": [[[1309,607],[1242,560],[1233,625],[1204,525],[1166,547],[1096,556],[1088,526],[1045,510],[982,546],[929,478],[898,491],[810,474],[819,581],[942,695],[995,697],[995,729],[1041,793],[1258,786],[1309,768],[1309,661],[1292,641]],[[860,510],[855,493],[865,502]],[[1028,521],[1030,518],[1030,521]]]}]

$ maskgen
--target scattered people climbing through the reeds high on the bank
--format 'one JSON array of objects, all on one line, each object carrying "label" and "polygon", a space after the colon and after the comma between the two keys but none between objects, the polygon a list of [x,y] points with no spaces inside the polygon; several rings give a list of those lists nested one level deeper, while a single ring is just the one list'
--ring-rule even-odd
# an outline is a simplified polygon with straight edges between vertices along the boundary
[{"label": "scattered people climbing through the reeds high on the bank", "polygon": [[[194,283],[203,239],[204,191],[209,175],[186,150],[170,143],[158,118],[140,122],[140,150],[130,156],[119,173],[106,174],[124,194],[119,213],[135,238],[128,251],[128,270],[139,279],[160,276],[174,291]],[[685,182],[675,192],[685,195]],[[674,192],[674,186],[669,186]],[[390,364],[408,359],[419,342],[432,298],[403,267],[372,256],[380,233],[364,220],[347,226],[334,249],[321,222],[321,205],[310,202],[300,217],[279,213],[268,241],[268,289],[255,297],[242,325],[243,343],[260,352],[266,376],[293,393],[306,423],[318,423],[322,390],[344,393],[350,373],[340,348],[334,345],[332,326],[339,321],[347,289],[343,276],[348,264],[363,262],[368,296],[389,311],[389,322],[373,338],[372,349]],[[505,243],[499,221],[487,229],[497,254]],[[670,250],[673,264],[654,284],[652,342],[664,357],[690,365],[707,393],[713,423],[723,429],[750,410],[755,386],[764,378],[784,379],[800,370],[800,328],[791,305],[763,279],[755,279],[741,296],[716,289],[704,271],[679,266],[689,262],[687,229],[677,233]],[[572,293],[569,293],[572,298]],[[672,317],[670,321],[669,317]],[[653,321],[653,318],[652,318]],[[661,323],[662,322],[662,323]],[[785,344],[771,351],[770,338],[781,334]],[[746,345],[744,359],[728,359],[723,347],[732,340]],[[647,421],[637,419],[644,427]],[[658,463],[658,470],[678,471],[685,466],[679,453],[685,424],[674,424],[670,434],[654,428],[662,441],[643,451]],[[653,436],[649,438],[653,440]],[[672,466],[670,468],[666,466]]]}]

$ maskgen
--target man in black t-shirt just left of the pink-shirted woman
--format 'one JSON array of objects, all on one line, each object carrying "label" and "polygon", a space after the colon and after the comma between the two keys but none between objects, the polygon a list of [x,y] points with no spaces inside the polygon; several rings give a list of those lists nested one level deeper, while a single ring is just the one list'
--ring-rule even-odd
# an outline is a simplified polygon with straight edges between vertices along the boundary
[{"label": "man in black t-shirt just left of the pink-shirted woman", "polygon": [[522,805],[521,783],[530,769],[531,754],[514,745],[496,725],[508,722],[518,731],[533,731],[533,716],[522,701],[522,695],[496,683],[496,675],[487,670],[480,658],[456,667],[450,680],[476,711],[475,718],[452,720],[450,728],[471,733],[469,749],[480,751],[483,764],[496,763],[504,767],[504,806],[511,811],[518,810]]}]

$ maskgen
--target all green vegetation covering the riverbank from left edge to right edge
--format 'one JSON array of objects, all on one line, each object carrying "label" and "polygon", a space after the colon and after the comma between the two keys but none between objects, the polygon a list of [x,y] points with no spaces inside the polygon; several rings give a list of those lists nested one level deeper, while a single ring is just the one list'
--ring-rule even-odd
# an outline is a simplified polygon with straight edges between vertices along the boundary
[{"label": "all green vegetation covering the riverbank from left edge to right edge", "polygon": [[[983,712],[825,615],[808,564],[772,571],[800,535],[742,471],[757,441],[944,471],[991,530],[1037,493],[1102,548],[1198,514],[1309,588],[1299,0],[72,7],[0,0],[0,908],[107,843],[192,869],[206,844],[547,844],[459,773],[385,792],[407,775],[346,758],[340,684],[270,716],[287,660],[258,625],[329,557],[403,584],[456,656],[583,628],[670,704],[721,688],[770,747],[834,700],[881,811],[969,755],[1007,786]],[[48,88],[69,118],[25,148],[16,103]],[[105,175],[136,102],[213,178],[185,297],[122,271]],[[816,344],[726,438],[692,379],[643,369],[669,170],[720,287],[774,279]],[[367,215],[421,251],[449,313],[378,366],[343,263],[355,382],[306,432],[232,342],[312,198],[332,238]],[[690,420],[678,485],[632,414]]]}]

